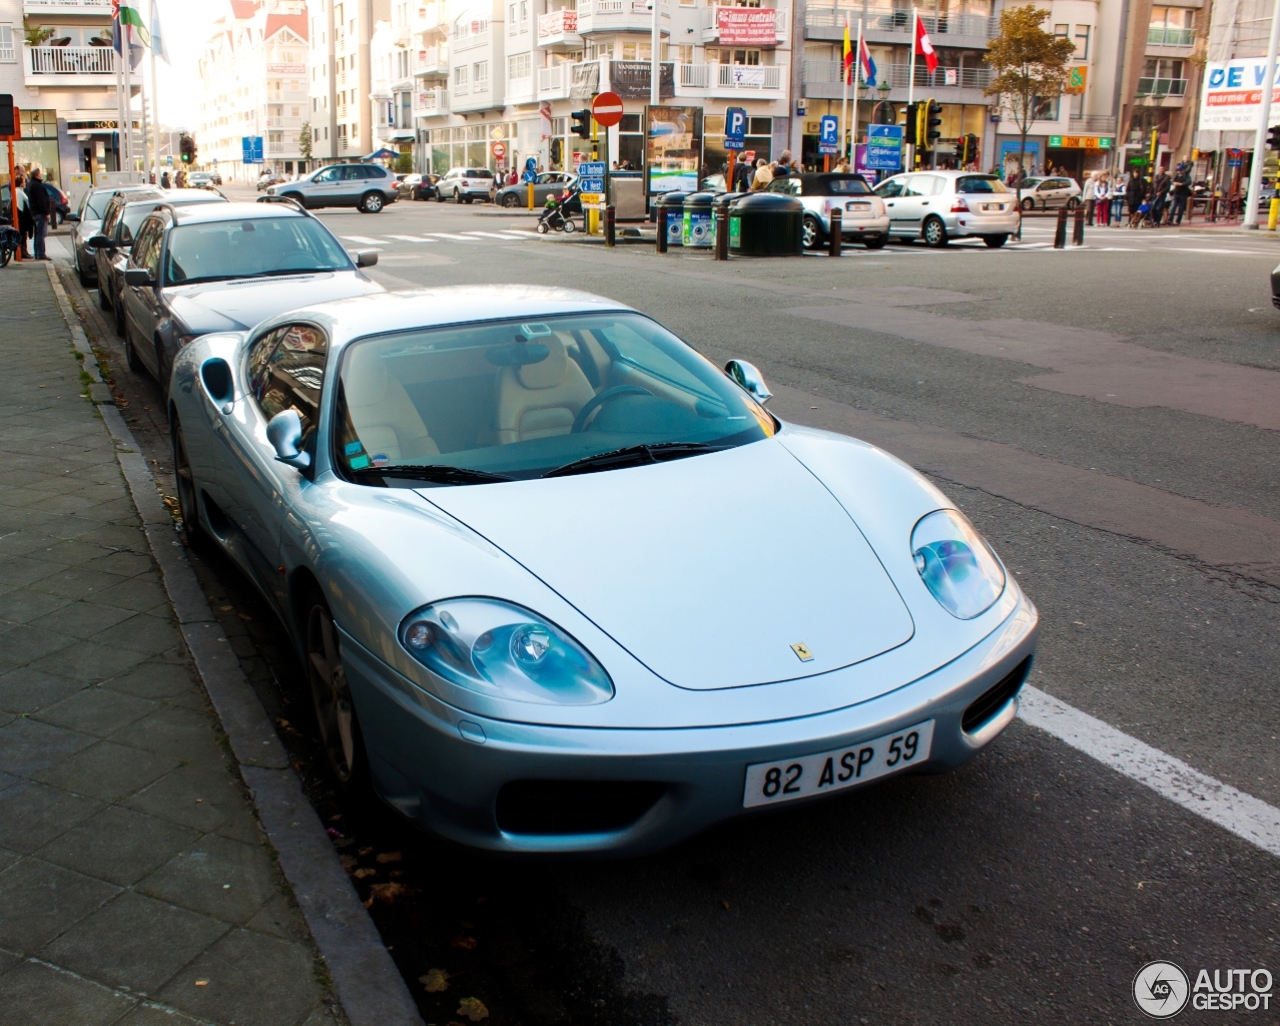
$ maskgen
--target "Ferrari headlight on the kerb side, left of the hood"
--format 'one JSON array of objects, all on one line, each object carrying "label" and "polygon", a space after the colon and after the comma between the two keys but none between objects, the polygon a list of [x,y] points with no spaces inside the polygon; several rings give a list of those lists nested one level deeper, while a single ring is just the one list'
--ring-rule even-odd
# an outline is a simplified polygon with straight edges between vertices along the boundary
[{"label": "Ferrari headlight on the kerb side, left of the hood", "polygon": [[468,691],[547,705],[595,705],[613,683],[556,624],[497,599],[447,599],[404,619],[401,642],[424,667]]}]

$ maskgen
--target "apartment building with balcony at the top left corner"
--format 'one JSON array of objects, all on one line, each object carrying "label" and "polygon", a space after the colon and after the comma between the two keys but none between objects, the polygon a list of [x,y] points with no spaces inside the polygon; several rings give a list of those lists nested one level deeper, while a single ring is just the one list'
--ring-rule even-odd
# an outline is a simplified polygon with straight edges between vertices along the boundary
[{"label": "apartment building with balcony at the top left corner", "polygon": [[0,0],[0,93],[22,110],[19,161],[59,183],[119,170],[116,61],[111,0]]}]

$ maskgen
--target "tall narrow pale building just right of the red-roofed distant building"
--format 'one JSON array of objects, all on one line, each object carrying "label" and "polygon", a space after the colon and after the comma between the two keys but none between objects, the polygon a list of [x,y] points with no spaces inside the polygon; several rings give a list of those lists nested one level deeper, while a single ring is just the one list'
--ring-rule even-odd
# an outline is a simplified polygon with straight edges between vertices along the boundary
[{"label": "tall narrow pale building just right of the red-roofed distant building", "polygon": [[371,43],[390,0],[307,0],[307,116],[317,162],[356,160],[378,148]]}]

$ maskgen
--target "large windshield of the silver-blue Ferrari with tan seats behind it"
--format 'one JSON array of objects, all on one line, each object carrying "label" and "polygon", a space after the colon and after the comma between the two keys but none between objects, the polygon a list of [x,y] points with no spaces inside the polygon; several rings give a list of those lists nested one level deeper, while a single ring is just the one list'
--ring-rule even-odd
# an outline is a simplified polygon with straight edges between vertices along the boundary
[{"label": "large windshield of the silver-blue Ferrari with tan seats behind it", "polygon": [[712,363],[628,312],[364,339],[339,381],[335,463],[361,484],[406,466],[435,468],[434,484],[466,484],[439,468],[540,477],[628,446],[689,443],[692,454],[774,430]]}]

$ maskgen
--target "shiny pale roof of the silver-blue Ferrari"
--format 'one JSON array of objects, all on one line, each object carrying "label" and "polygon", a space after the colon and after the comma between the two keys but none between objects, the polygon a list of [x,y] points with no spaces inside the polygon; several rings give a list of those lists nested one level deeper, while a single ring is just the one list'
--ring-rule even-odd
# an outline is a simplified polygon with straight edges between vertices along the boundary
[{"label": "shiny pale roof of the silver-blue Ferrari", "polygon": [[317,303],[264,321],[255,335],[284,324],[310,321],[325,328],[330,349],[335,351],[353,339],[392,331],[607,311],[631,312],[631,307],[603,296],[553,285],[445,285]]}]

